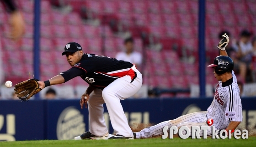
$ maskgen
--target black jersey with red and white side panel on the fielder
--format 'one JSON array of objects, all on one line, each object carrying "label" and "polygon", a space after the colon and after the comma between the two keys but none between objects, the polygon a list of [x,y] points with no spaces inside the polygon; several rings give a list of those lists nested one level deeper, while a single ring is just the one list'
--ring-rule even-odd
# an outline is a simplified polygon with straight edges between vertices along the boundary
[{"label": "black jersey with red and white side panel on the fielder", "polygon": [[104,89],[117,78],[129,75],[131,81],[136,77],[136,73],[131,70],[133,64],[126,61],[107,56],[97,56],[95,54],[84,54],[81,60],[72,68],[83,70],[81,78],[91,86]]}]

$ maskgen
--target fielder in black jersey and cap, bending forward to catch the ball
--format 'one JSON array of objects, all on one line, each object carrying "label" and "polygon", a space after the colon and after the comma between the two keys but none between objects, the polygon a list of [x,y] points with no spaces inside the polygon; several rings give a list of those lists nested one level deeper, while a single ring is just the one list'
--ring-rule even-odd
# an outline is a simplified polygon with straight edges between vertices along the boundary
[{"label": "fielder in black jersey and cap, bending forward to catch the ball", "polygon": [[[126,61],[118,61],[107,56],[84,54],[82,47],[69,42],[62,55],[67,57],[68,71],[54,76],[48,81],[39,81],[40,88],[61,84],[80,76],[89,84],[81,96],[80,105],[89,109],[90,130],[75,140],[81,139],[133,139],[133,132],[128,125],[120,100],[133,96],[142,85],[142,75],[136,67]],[[103,116],[103,103],[106,103],[115,136],[109,138]]]}]

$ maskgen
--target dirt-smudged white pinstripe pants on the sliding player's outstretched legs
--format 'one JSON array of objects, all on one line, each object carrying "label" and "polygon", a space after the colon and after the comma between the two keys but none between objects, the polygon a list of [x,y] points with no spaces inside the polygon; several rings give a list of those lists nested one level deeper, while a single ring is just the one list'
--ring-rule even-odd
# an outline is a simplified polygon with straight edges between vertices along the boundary
[{"label": "dirt-smudged white pinstripe pants on the sliding player's outstretched legs", "polygon": [[[207,117],[206,117],[206,111],[205,112],[194,112],[190,114],[183,115],[181,117],[178,117],[176,119],[160,122],[159,124],[151,127],[144,128],[140,132],[136,132],[136,138],[149,138],[152,136],[159,136],[163,135],[163,128],[165,126],[168,126],[168,128],[172,126],[176,127],[182,127],[187,126],[191,130],[192,126],[208,126]],[[217,128],[216,128],[217,130]],[[168,131],[169,132],[169,131]],[[183,131],[183,134],[186,134],[186,131]],[[203,136],[203,130],[199,133],[200,136]],[[210,128],[207,131],[207,136],[212,135],[212,129]],[[191,136],[191,134],[190,134]]]}]

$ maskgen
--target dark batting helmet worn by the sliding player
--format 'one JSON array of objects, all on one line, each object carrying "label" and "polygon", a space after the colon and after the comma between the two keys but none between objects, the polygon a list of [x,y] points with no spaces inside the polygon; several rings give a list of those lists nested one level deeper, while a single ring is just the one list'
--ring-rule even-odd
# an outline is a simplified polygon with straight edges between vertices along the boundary
[{"label": "dark batting helmet worn by the sliding player", "polygon": [[234,69],[234,62],[228,56],[217,56],[214,59],[213,64],[209,65],[208,67],[216,67],[216,74],[222,75],[225,72],[232,71]]}]

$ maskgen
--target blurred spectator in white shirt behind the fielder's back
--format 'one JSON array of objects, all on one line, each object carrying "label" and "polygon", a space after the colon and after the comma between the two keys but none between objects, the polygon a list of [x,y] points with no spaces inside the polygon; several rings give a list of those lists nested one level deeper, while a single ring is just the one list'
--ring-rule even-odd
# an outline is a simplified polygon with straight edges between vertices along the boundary
[{"label": "blurred spectator in white shirt behind the fielder's back", "polygon": [[133,38],[125,39],[124,46],[126,51],[118,52],[116,59],[131,62],[138,68],[142,63],[142,56],[139,52],[133,51]]}]

